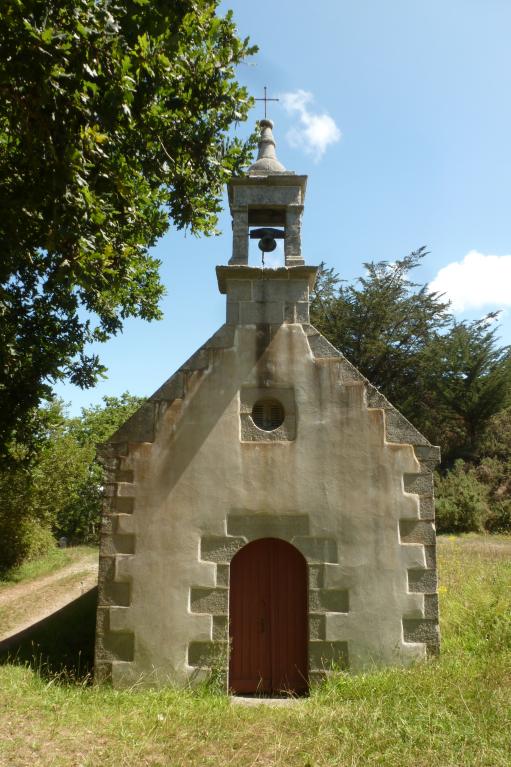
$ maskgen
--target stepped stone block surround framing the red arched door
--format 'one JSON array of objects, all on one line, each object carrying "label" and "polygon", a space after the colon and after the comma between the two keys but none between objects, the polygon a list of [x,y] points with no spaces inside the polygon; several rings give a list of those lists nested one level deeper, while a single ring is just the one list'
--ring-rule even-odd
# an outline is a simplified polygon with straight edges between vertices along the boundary
[{"label": "stepped stone block surround framing the red arched door", "polygon": [[[348,643],[343,637],[327,641],[327,614],[349,612],[349,591],[337,571],[338,549],[334,538],[310,534],[306,514],[271,514],[267,512],[232,512],[227,515],[226,535],[204,535],[200,559],[216,565],[216,585],[193,585],[190,588],[190,611],[211,616],[208,640],[192,641],[188,646],[188,664],[197,672],[215,669],[225,676],[227,687],[229,647],[229,572],[234,555],[247,543],[259,538],[280,538],[303,554],[308,570],[308,658],[309,681],[323,678],[329,668],[348,666]],[[340,569],[340,568],[339,568]],[[335,586],[330,582],[335,580]]]}]

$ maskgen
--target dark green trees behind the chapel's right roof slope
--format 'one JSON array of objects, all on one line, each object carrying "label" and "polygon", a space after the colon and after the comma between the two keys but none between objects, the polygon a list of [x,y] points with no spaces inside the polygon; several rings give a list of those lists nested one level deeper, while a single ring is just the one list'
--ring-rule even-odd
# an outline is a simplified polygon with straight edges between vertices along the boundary
[{"label": "dark green trees behind the chapel's right roof slope", "polygon": [[441,296],[409,273],[425,249],[365,264],[344,284],[322,265],[311,321],[426,437],[444,465],[474,460],[491,417],[511,396],[511,355],[497,346],[495,315],[456,322]]}]

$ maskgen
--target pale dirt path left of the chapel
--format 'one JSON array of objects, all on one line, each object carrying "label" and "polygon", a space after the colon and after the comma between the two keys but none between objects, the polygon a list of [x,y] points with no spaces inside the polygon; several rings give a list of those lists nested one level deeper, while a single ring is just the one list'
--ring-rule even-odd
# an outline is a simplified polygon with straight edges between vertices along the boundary
[{"label": "pale dirt path left of the chapel", "polygon": [[65,607],[97,582],[97,555],[86,555],[56,573],[2,590],[0,641]]}]

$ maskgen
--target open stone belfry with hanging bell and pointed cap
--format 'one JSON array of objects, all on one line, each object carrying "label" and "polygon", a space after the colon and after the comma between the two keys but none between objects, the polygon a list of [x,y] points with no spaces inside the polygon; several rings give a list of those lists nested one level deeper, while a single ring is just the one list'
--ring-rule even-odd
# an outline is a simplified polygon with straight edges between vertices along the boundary
[{"label": "open stone belfry with hanging bell and pointed cap", "polygon": [[307,176],[286,170],[278,161],[271,120],[259,123],[257,160],[245,176],[227,185],[232,215],[233,247],[230,266],[248,266],[248,240],[259,239],[263,252],[284,240],[284,265],[303,266],[301,223]]}]

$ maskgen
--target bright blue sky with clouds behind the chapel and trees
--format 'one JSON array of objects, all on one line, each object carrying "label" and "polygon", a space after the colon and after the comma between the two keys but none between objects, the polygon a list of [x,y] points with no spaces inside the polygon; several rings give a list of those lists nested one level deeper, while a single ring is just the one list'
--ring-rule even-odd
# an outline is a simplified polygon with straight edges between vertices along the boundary
[{"label": "bright blue sky with clouds behind the chapel and trees", "polygon": [[[278,157],[309,176],[303,251],[352,280],[363,262],[427,245],[416,277],[446,290],[457,316],[502,309],[511,343],[511,2],[246,0],[231,8],[259,53],[239,68],[270,106]],[[258,104],[250,125],[262,116]],[[97,351],[108,379],[59,384],[70,412],[125,390],[149,395],[222,324],[215,265],[223,234],[169,232],[154,249],[165,319],[130,320]]]}]

